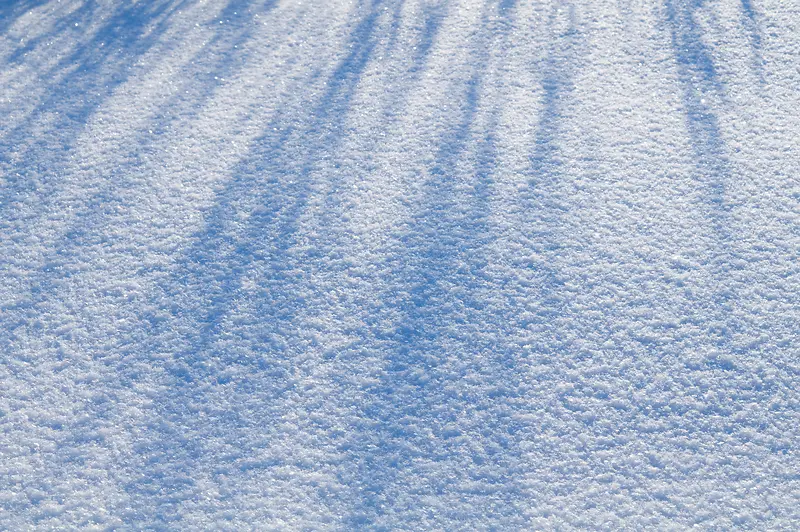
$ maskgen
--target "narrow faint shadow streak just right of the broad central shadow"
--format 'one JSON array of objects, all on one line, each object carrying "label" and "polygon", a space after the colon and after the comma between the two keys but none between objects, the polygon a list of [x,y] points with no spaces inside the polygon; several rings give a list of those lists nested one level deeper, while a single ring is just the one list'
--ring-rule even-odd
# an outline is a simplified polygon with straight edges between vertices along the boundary
[{"label": "narrow faint shadow streak just right of the broad central shadow", "polygon": [[[559,31],[559,18],[566,17],[567,27]],[[559,268],[560,258],[569,252],[574,236],[569,233],[569,220],[575,205],[571,198],[572,176],[565,168],[564,145],[569,141],[565,128],[565,115],[573,105],[574,78],[581,68],[579,61],[585,47],[584,36],[578,28],[575,5],[571,2],[554,3],[548,20],[549,46],[541,65],[540,83],[543,91],[532,151],[529,156],[529,179],[520,191],[523,208],[521,224],[524,227],[526,247],[534,251],[529,268],[537,281],[532,293],[525,297],[529,314],[524,319],[512,315],[515,328],[527,330],[526,343],[530,354],[538,362],[549,366],[549,377],[539,375],[539,380],[565,380],[564,370],[579,362],[585,355],[577,352],[572,342],[579,331],[564,330],[579,327],[583,321],[566,291],[567,272]],[[540,383],[541,386],[541,383]],[[566,404],[571,392],[557,394],[561,405]],[[544,460],[559,458],[564,442],[538,439],[529,442]]]}]

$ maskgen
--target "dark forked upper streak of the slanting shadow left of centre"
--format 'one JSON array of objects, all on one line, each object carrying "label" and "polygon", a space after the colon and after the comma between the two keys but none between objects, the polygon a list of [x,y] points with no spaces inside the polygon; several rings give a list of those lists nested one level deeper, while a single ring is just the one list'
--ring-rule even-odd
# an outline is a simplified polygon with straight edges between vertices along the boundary
[{"label": "dark forked upper streak of the slanting shadow left of centre", "polygon": [[[276,236],[274,242],[277,247],[275,253],[270,254],[278,261],[295,244],[292,235],[297,233],[297,223],[312,193],[310,173],[321,158],[332,153],[342,140],[350,100],[378,44],[376,23],[384,3],[372,1],[369,13],[354,28],[348,42],[350,52],[329,76],[327,89],[316,106],[299,122],[294,117],[275,118],[265,129],[265,135],[255,143],[253,153],[245,164],[234,172],[233,178],[217,195],[219,201],[206,215],[206,228],[197,235],[196,245],[181,264],[182,268],[186,268],[181,276],[184,280],[197,279],[209,264],[216,263],[224,268],[222,277],[226,281],[216,290],[208,292],[213,283],[204,289],[207,293],[202,299],[210,305],[200,320],[200,330],[203,332],[199,343],[192,346],[195,352],[204,351],[216,338],[222,320],[229,313],[240,288],[241,275],[253,260],[248,248],[263,241],[263,229],[279,228],[277,235],[282,236]],[[289,145],[292,142],[294,144]],[[288,153],[289,149],[294,148],[299,148],[303,155],[297,157]],[[243,169],[245,165],[253,163],[257,167],[255,175]],[[272,181],[265,180],[265,176]],[[283,178],[283,181],[275,181],[276,176]],[[265,184],[268,185],[266,188]],[[258,193],[254,194],[254,190]],[[236,234],[236,229],[231,229],[237,225],[236,203],[246,197],[257,198],[256,202],[251,200],[251,203],[260,203],[262,208],[250,218],[241,236],[234,237],[240,245],[231,248],[225,239]],[[281,198],[281,201],[275,202],[275,198]],[[264,208],[267,205],[274,205],[275,210]],[[229,249],[230,252],[220,257],[219,252],[223,249]]]}]

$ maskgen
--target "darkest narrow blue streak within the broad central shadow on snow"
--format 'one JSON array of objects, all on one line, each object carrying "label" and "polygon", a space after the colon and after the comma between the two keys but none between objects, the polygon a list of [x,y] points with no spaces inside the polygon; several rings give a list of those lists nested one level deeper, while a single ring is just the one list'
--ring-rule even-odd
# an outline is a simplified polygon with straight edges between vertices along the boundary
[{"label": "darkest narrow blue streak within the broad central shadow on snow", "polygon": [[[390,356],[386,361],[386,374],[380,385],[370,390],[370,405],[363,414],[377,421],[380,428],[377,434],[359,432],[360,442],[354,444],[358,451],[352,454],[359,464],[363,491],[361,500],[346,522],[348,526],[375,526],[375,520],[381,517],[384,509],[392,508],[389,491],[397,482],[397,473],[412,467],[409,454],[425,456],[432,453],[432,442],[421,434],[424,429],[418,433],[415,427],[405,426],[409,418],[424,420],[425,428],[439,434],[443,432],[439,425],[454,421],[450,417],[430,419],[430,412],[435,411],[432,403],[436,401],[436,392],[441,391],[442,380],[448,378],[440,374],[446,354],[437,346],[437,340],[442,322],[451,316],[452,309],[437,315],[437,307],[442,306],[441,300],[447,297],[440,284],[453,278],[456,268],[452,261],[455,257],[469,252],[468,243],[447,233],[448,226],[458,222],[446,219],[453,209],[449,203],[454,201],[449,180],[458,156],[467,149],[467,136],[477,113],[479,78],[474,76],[468,86],[464,98],[466,109],[453,128],[452,137],[443,141],[439,148],[436,162],[430,168],[432,177],[423,192],[422,210],[411,222],[409,236],[403,238],[407,256],[393,259],[392,276],[401,279],[398,284],[408,290],[408,296],[387,299],[382,303],[384,307],[399,311],[403,323],[388,336],[378,333],[378,339],[386,344],[383,350]],[[475,222],[475,225],[482,224]],[[466,231],[477,233],[477,230]],[[386,319],[379,312],[373,314],[367,324],[371,329],[379,330]],[[429,390],[429,386],[435,390]],[[407,452],[405,449],[409,447],[414,447],[415,451]],[[391,469],[387,470],[387,465]]]}]

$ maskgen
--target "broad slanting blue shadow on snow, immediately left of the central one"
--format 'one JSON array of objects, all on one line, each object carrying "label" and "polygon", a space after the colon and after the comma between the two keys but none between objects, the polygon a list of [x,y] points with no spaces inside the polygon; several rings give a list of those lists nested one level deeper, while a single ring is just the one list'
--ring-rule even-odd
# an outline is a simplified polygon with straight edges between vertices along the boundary
[{"label": "broad slanting blue shadow on snow, immediately left of the central one", "polygon": [[[202,473],[221,486],[228,475],[308,469],[303,457],[281,455],[279,424],[287,411],[302,410],[300,381],[314,339],[301,327],[326,297],[314,272],[337,267],[329,261],[341,252],[341,235],[334,223],[321,224],[314,234],[302,224],[308,217],[324,221],[336,209],[341,173],[320,176],[317,170],[336,159],[346,140],[352,100],[377,51],[386,41],[391,46],[397,26],[386,19],[402,5],[364,0],[354,8],[359,19],[346,54],[315,80],[321,94],[297,87],[311,96],[299,98],[299,110],[287,104],[265,124],[162,286],[155,304],[170,315],[153,324],[147,350],[171,353],[165,363],[169,384],[138,447],[145,466],[127,486],[137,508],[132,522],[169,522],[175,507],[193,497],[198,472],[209,465],[212,470]],[[309,213],[309,202],[320,197],[323,212]],[[243,307],[254,319],[232,322]],[[169,340],[175,329],[185,332]],[[236,398],[256,392],[247,407],[234,406]]]}]

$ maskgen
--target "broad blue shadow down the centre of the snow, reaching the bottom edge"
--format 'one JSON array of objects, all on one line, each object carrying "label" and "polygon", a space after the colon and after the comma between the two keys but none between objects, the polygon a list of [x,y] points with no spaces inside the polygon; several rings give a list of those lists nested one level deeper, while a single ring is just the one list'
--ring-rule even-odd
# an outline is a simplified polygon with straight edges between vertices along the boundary
[{"label": "broad blue shadow down the centre of the snow, reaching the bottom edge", "polygon": [[[455,476],[485,483],[459,491],[461,501],[475,505],[467,511],[509,513],[497,504],[510,505],[514,497],[508,475],[515,461],[510,455],[518,453],[509,404],[520,395],[518,353],[504,341],[508,315],[493,314],[497,309],[486,301],[501,105],[489,111],[485,130],[476,124],[491,105],[483,96],[491,37],[508,38],[514,8],[508,1],[483,7],[482,29],[467,45],[472,72],[447,89],[458,104],[443,116],[418,207],[388,252],[389,288],[365,320],[361,348],[380,349],[383,369],[365,390],[366,404],[344,444],[350,459],[342,474],[359,497],[345,521],[349,528],[401,526],[398,517],[413,519],[431,509],[430,500],[423,502],[428,496],[452,495]],[[478,382],[464,385],[465,377]],[[480,431],[484,452],[470,456],[466,431]],[[433,511],[446,518],[463,510],[443,504]]]}]

